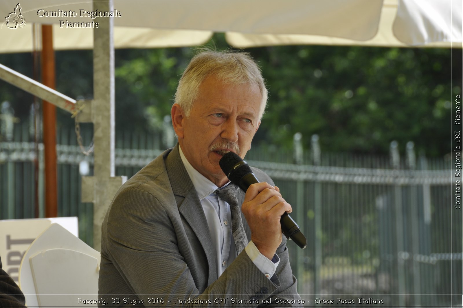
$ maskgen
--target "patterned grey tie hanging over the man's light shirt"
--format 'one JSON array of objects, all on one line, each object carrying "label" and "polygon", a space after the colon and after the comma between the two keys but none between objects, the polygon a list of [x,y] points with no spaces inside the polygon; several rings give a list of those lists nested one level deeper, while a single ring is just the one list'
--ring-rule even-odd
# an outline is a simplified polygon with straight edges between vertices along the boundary
[{"label": "patterned grey tie hanging over the man's light shirt", "polygon": [[232,211],[232,234],[235,241],[238,255],[249,243],[246,233],[244,232],[243,221],[241,220],[241,209],[238,204],[236,192],[239,188],[232,183],[220,188],[219,198],[230,205]]}]

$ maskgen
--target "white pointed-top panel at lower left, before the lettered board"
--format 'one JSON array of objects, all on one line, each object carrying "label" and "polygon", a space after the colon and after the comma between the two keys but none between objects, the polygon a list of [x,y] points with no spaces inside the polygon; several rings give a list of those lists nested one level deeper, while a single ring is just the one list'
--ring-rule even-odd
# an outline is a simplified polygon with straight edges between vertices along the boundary
[{"label": "white pointed-top panel at lower left, before the lettered board", "polygon": [[79,298],[97,300],[99,270],[100,252],[61,225],[51,224],[26,250],[19,288],[26,306],[86,306]]}]

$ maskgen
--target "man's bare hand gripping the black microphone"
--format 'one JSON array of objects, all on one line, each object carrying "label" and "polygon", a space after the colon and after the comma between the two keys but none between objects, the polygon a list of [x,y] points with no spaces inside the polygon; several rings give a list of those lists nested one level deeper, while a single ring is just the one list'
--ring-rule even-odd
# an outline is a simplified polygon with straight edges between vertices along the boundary
[{"label": "man's bare hand gripping the black microphone", "polygon": [[267,182],[252,184],[244,197],[241,210],[251,229],[251,240],[257,249],[270,260],[282,243],[280,218],[292,212],[280,194],[280,189]]}]

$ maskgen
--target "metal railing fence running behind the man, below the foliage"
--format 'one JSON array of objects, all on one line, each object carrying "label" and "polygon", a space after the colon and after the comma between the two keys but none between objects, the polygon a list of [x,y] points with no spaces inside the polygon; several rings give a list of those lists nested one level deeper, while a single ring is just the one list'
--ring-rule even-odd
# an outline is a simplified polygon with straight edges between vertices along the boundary
[{"label": "metal railing fence running behind the man, below the foliage", "polygon": [[[0,219],[44,215],[43,146],[29,132],[15,124],[10,140],[0,142]],[[90,143],[90,130],[82,134]],[[299,292],[375,294],[400,306],[461,304],[452,297],[461,293],[463,269],[450,158],[416,158],[409,143],[400,159],[394,142],[384,157],[322,154],[316,136],[304,152],[301,138],[294,136],[292,151],[253,147],[246,157],[275,180],[307,237],[305,250],[288,243]],[[93,205],[80,202],[80,186],[93,158],[80,154],[75,140],[73,130],[58,129],[58,212],[78,216],[80,237],[92,245]],[[116,175],[132,176],[172,143],[168,131],[117,132]]]}]

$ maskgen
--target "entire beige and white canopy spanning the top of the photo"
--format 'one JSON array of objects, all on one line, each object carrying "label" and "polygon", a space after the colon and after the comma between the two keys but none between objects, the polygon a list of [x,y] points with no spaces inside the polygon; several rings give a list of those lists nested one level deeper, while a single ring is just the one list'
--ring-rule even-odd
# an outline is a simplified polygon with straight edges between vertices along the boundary
[{"label": "entire beige and white canopy spanning the top of the photo", "polygon": [[[17,4],[2,0],[0,16]],[[20,6],[25,26],[1,25],[0,52],[31,51],[32,23],[54,24],[56,50],[93,47],[93,28],[60,24],[94,21],[81,16],[93,11],[91,0],[23,0]],[[227,32],[227,41],[237,47],[450,47],[463,41],[462,0],[114,0],[114,8],[120,12],[114,18],[116,48],[200,45],[213,32]],[[76,16],[65,16],[69,11]]]}]

